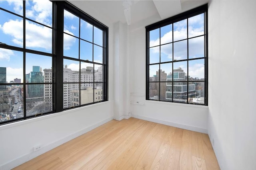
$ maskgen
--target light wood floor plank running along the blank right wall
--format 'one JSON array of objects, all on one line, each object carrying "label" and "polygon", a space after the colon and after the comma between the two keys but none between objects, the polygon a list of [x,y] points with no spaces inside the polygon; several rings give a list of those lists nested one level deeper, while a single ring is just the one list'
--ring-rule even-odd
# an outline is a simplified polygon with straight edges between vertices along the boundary
[{"label": "light wood floor plank running along the blank right wall", "polygon": [[216,159],[215,153],[212,149],[210,139],[207,134],[202,133],[202,148],[204,151],[204,158],[207,170],[219,170],[219,164]]}]

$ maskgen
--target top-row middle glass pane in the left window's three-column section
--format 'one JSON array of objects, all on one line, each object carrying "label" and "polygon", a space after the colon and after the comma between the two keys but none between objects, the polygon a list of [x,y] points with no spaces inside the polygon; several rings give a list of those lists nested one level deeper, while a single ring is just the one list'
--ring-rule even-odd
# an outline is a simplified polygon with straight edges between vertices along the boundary
[{"label": "top-row middle glass pane in the left window's three-column section", "polygon": [[84,20],[80,20],[80,38],[92,42],[92,25]]}]

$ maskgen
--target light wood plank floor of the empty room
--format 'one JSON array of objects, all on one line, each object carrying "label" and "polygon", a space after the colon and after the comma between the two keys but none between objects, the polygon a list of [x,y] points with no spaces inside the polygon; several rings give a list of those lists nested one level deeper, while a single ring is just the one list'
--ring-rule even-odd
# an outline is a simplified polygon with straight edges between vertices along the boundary
[{"label": "light wood plank floor of the empty room", "polygon": [[15,170],[218,170],[207,134],[130,118],[112,120]]}]

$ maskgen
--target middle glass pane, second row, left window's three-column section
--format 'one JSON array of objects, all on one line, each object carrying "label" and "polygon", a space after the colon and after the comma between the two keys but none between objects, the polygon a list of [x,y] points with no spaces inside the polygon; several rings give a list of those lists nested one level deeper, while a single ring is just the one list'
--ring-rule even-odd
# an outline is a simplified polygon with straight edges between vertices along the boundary
[{"label": "middle glass pane, second row, left window's three-column section", "polygon": [[80,40],[80,59],[92,61],[92,43]]}]

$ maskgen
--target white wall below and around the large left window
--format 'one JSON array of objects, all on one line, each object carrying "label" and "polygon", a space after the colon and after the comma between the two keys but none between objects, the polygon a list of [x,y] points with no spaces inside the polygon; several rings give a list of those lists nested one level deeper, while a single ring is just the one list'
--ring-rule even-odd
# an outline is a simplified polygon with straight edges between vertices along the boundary
[{"label": "white wall below and around the large left window", "polygon": [[[80,107],[0,126],[0,170],[14,168],[114,118],[114,29],[106,16],[87,6],[72,2],[109,28],[108,102]],[[34,152],[33,147],[42,149]]]}]

